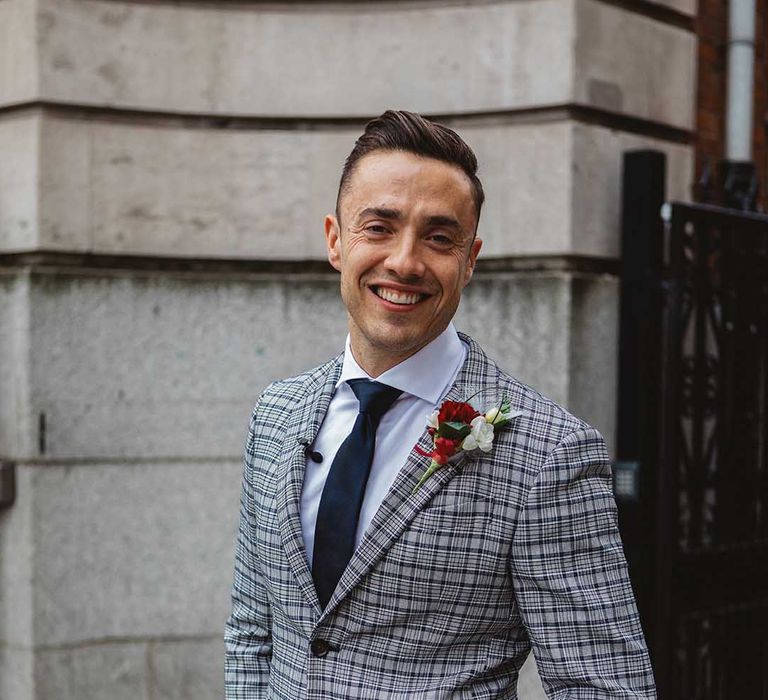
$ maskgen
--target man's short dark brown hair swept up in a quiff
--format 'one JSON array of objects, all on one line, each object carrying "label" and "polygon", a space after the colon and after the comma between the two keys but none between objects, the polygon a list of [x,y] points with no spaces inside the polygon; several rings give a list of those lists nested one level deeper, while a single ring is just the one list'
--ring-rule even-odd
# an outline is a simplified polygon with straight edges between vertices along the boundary
[{"label": "man's short dark brown hair swept up in a quiff", "polygon": [[336,196],[336,218],[339,221],[341,197],[349,189],[349,181],[355,172],[357,161],[374,151],[404,151],[425,158],[435,158],[461,168],[472,183],[476,221],[480,220],[480,209],[485,201],[485,194],[477,177],[477,158],[472,149],[447,126],[413,112],[389,109],[365,125],[365,131],[347,156]]}]

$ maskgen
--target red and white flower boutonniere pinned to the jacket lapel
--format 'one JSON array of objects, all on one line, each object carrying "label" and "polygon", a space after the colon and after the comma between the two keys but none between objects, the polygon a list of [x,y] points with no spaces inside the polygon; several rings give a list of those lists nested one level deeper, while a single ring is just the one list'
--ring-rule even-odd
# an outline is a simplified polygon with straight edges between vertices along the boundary
[{"label": "red and white flower boutonniere pinned to the jacket lapel", "polygon": [[468,401],[443,401],[440,408],[427,417],[427,432],[432,436],[432,451],[426,452],[418,445],[415,448],[420,455],[431,457],[432,461],[414,487],[413,493],[416,493],[440,467],[448,464],[451,457],[460,452],[478,449],[490,452],[494,430],[521,414],[522,411],[512,412],[506,398],[502,398],[498,406],[494,406],[485,414],[474,409]]}]

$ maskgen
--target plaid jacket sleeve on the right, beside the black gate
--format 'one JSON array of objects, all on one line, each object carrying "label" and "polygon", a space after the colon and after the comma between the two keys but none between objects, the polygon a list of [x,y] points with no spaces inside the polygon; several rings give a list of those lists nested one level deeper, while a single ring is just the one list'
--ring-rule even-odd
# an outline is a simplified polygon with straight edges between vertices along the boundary
[{"label": "plaid jacket sleeve on the right, beside the black gate", "polygon": [[511,574],[547,696],[656,698],[600,434],[569,433],[538,473]]}]

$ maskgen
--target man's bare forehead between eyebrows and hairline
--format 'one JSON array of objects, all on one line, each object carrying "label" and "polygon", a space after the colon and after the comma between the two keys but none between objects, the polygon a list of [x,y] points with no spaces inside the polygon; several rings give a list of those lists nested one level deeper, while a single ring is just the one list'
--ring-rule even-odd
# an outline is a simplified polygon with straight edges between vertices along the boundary
[{"label": "man's bare forehead between eyebrows and hairline", "polygon": [[340,204],[351,215],[366,207],[394,207],[474,219],[472,194],[472,183],[456,165],[403,151],[374,151],[355,164]]}]

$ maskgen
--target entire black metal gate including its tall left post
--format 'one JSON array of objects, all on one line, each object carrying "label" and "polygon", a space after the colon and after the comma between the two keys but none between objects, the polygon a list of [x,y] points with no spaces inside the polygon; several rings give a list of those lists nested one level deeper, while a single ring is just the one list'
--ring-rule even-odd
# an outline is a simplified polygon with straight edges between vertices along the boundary
[{"label": "entire black metal gate including its tall left post", "polygon": [[661,700],[768,700],[768,216],[624,163],[615,487]]}]

